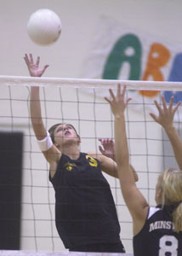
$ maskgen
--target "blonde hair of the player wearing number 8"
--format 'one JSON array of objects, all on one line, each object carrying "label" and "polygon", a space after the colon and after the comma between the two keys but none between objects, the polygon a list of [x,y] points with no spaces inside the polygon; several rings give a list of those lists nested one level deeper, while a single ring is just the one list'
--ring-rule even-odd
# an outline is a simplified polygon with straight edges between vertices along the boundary
[{"label": "blonde hair of the player wearing number 8", "polygon": [[174,231],[182,231],[182,171],[170,168],[162,173],[162,205],[173,206]]}]

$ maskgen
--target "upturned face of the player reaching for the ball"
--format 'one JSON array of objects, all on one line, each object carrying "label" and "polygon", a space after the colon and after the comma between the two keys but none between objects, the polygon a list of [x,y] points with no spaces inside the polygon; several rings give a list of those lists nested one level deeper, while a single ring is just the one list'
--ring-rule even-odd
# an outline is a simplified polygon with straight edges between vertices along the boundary
[{"label": "upturned face of the player reaching for the ball", "polygon": [[69,140],[77,141],[77,143],[80,142],[77,132],[73,126],[69,124],[58,125],[54,131],[55,143],[62,145]]}]

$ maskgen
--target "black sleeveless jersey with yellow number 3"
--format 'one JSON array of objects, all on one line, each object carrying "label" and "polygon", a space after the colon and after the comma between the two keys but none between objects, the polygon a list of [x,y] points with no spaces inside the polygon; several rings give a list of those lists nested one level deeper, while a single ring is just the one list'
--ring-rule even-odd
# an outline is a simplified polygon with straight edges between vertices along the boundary
[{"label": "black sleeveless jersey with yellow number 3", "polygon": [[80,153],[77,160],[62,154],[53,178],[55,223],[66,248],[120,242],[120,225],[109,183],[100,161]]}]

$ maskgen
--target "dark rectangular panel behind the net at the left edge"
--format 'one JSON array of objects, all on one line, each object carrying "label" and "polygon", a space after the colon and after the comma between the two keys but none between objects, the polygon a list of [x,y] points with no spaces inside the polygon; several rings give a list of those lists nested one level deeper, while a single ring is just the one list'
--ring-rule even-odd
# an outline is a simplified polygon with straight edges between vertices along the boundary
[{"label": "dark rectangular panel behind the net at the left edge", "polygon": [[20,249],[23,134],[0,132],[0,249]]}]

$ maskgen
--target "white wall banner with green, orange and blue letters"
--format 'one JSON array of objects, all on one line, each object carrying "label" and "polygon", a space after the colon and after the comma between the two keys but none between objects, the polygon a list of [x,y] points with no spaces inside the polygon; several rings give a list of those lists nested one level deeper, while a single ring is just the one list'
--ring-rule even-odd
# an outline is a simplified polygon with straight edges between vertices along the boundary
[{"label": "white wall banner with green, orange and blue letters", "polygon": [[[182,46],[139,32],[124,24],[102,17],[92,49],[84,62],[82,78],[152,81],[182,81]],[[153,105],[160,91],[131,90],[133,102]],[[162,91],[166,102],[182,101],[182,91]],[[103,95],[100,90],[99,96]],[[156,108],[155,108],[156,109]]]}]

